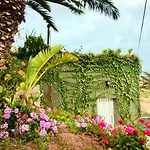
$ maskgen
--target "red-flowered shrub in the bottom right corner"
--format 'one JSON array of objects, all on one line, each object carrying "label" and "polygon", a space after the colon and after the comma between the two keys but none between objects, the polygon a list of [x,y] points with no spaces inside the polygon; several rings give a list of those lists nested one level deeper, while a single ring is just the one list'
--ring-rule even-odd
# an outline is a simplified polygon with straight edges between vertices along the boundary
[{"label": "red-flowered shrub in the bottom right corner", "polygon": [[[118,121],[119,125],[107,132],[102,143],[107,148],[114,150],[146,150],[147,136],[150,136],[149,129],[141,129],[140,124],[125,124],[123,120]],[[141,123],[141,122],[140,122]],[[143,123],[143,122],[142,122]]]}]

